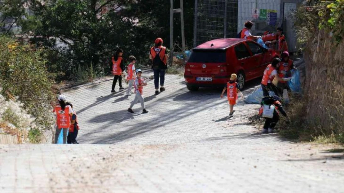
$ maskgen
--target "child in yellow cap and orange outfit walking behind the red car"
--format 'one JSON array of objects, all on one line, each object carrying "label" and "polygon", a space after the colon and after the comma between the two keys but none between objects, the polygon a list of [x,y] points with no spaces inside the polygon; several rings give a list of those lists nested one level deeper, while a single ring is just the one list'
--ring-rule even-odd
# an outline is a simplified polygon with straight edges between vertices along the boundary
[{"label": "child in yellow cap and orange outfit walking behind the red car", "polygon": [[240,94],[241,98],[244,98],[243,93],[239,91],[238,83],[236,82],[237,75],[232,74],[230,75],[230,80],[227,82],[226,87],[223,88],[221,93],[221,98],[223,98],[223,94],[227,90],[227,99],[229,102],[229,116],[232,116],[234,113],[234,105],[236,104],[236,99],[238,98],[238,93]]}]

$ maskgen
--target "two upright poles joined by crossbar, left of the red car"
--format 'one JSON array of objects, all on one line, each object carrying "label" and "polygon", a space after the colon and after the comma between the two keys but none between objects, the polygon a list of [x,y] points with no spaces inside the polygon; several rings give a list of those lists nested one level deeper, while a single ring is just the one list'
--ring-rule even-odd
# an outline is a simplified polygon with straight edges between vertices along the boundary
[{"label": "two upright poles joined by crossbar, left of the red car", "polygon": [[172,62],[173,62],[173,13],[180,13],[181,30],[182,30],[182,51],[183,51],[183,55],[185,55],[183,0],[180,0],[180,9],[173,9],[173,0],[171,0],[171,9],[170,9],[170,65],[172,65]]}]

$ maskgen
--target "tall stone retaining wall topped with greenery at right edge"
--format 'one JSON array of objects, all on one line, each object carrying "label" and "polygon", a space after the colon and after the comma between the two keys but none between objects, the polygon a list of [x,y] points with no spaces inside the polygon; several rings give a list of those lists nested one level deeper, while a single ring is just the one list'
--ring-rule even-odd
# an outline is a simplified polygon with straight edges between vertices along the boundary
[{"label": "tall stone retaining wall topped with greenery at right edge", "polygon": [[307,1],[295,18],[304,45],[309,134],[344,142],[344,1]]}]

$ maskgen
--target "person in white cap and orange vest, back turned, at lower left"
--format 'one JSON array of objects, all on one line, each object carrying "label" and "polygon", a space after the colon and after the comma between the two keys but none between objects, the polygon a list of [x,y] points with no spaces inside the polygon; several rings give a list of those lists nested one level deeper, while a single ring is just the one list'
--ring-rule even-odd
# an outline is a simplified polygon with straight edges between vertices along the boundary
[{"label": "person in white cap and orange vest, back turned, at lower left", "polygon": [[63,143],[67,143],[67,132],[69,127],[71,126],[71,117],[74,112],[71,106],[66,104],[66,97],[64,95],[58,96],[58,103],[56,105],[53,112],[56,113],[56,132],[55,132],[55,143],[58,141],[58,136],[63,130]]}]

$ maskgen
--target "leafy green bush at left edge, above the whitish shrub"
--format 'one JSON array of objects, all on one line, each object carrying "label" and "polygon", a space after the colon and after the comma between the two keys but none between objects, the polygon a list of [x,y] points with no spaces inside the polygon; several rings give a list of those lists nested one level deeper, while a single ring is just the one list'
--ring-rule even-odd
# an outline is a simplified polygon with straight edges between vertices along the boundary
[{"label": "leafy green bush at left edge, above the whitish shrub", "polygon": [[51,129],[49,109],[56,99],[44,55],[43,49],[0,37],[0,94],[6,98],[18,96],[36,124],[41,129]]}]

